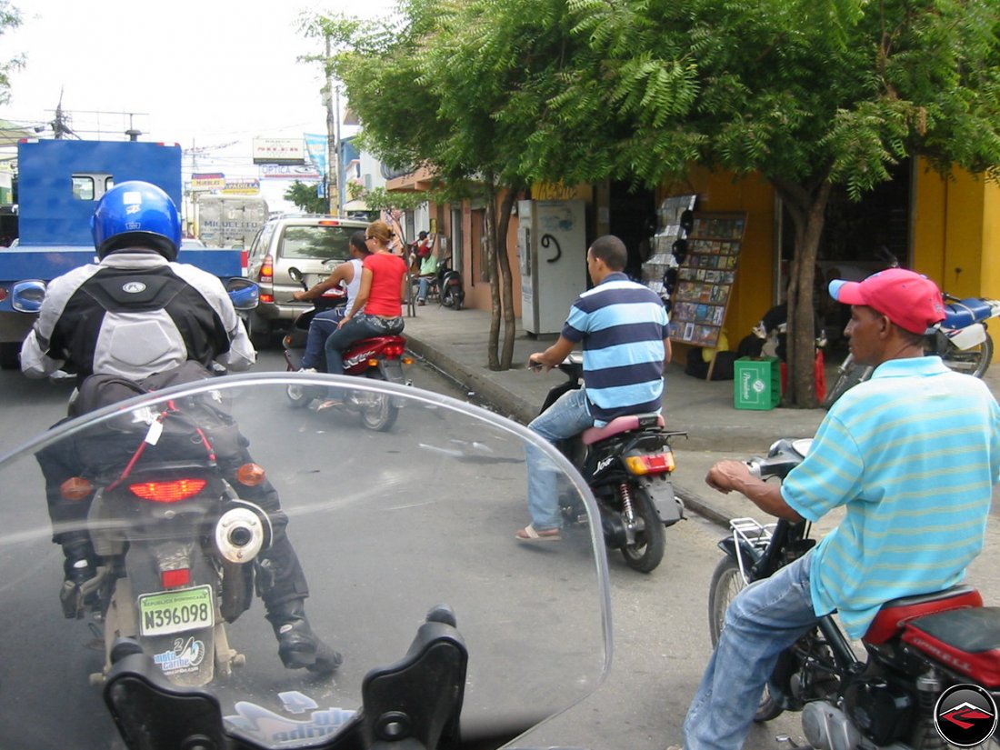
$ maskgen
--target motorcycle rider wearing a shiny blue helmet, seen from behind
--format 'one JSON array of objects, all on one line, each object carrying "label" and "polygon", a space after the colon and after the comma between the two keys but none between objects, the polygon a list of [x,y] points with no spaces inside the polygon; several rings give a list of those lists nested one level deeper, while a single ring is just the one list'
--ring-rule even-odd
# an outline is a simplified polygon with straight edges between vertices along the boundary
[{"label": "motorcycle rider wearing a shiny blue helmet, seen from behind", "polygon": [[[219,279],[176,262],[180,216],[163,190],[141,181],[116,185],[98,203],[91,230],[98,262],[49,283],[21,350],[25,375],[46,377],[68,362],[78,383],[95,373],[138,381],[191,361],[209,368],[223,355],[232,370],[253,364],[256,352]],[[249,453],[245,447],[242,451],[226,463],[246,463]],[[70,502],[60,493],[60,484],[76,474],[73,456],[40,452],[38,459],[53,541],[66,557],[60,599],[66,617],[78,617],[80,584],[95,575],[96,567],[86,531],[91,498]],[[288,518],[270,482],[255,489],[256,496],[248,499],[268,513],[273,527],[272,544],[260,555],[258,581],[279,655],[288,668],[330,672],[341,657],[306,619],[309,591],[285,533]]]}]

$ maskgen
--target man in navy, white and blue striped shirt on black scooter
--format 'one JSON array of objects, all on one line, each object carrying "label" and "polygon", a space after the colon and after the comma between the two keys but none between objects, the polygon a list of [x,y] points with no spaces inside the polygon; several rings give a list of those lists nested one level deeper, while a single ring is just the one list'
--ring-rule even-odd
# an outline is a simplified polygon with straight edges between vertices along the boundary
[{"label": "man in navy, white and blue striped shirt on black scooter", "polygon": [[[564,393],[528,427],[550,442],[615,417],[659,413],[663,367],[670,361],[667,311],[652,290],[623,273],[625,244],[613,235],[598,237],[587,249],[587,272],[594,287],[576,298],[559,339],[528,357],[532,368],[550,370],[583,344],[585,388]],[[556,474],[540,451],[526,451],[531,523],[518,529],[523,542],[555,541],[562,519]]]}]

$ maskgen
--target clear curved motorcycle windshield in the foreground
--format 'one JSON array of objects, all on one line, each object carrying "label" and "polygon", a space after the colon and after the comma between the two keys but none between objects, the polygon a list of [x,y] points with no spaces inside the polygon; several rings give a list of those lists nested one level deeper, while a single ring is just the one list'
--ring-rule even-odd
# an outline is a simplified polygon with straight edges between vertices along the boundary
[{"label": "clear curved motorcycle windshield in the foreground", "polygon": [[[344,405],[298,406],[303,387],[331,383]],[[530,520],[526,450],[573,509],[561,540],[515,539]],[[362,712],[366,675],[398,664],[439,605],[464,641],[464,679],[421,668],[399,682],[399,708],[379,719],[390,736],[422,725],[407,712],[430,697],[460,706],[450,726],[463,741],[508,742],[591,693],[610,664],[583,480],[524,427],[434,393],[298,373],[204,380],[50,430],[0,461],[0,487],[0,747],[121,746],[109,668],[140,663],[160,688],[213,696],[234,746],[337,747],[382,710]],[[60,539],[93,548],[86,596],[61,588],[50,514]],[[332,674],[322,660],[286,668],[281,623],[266,617],[294,614],[306,585],[312,630],[342,654]],[[112,665],[116,642],[128,657]],[[131,684],[115,692],[117,720],[157,746],[162,721],[143,711],[185,714]]]}]

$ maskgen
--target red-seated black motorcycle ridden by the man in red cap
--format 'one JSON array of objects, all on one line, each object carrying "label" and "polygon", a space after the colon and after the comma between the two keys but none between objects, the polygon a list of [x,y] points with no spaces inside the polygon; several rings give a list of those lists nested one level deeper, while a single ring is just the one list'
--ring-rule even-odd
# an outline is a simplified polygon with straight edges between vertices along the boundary
[{"label": "red-seated black motorcycle ridden by the man in red cap", "polygon": [[[748,462],[751,473],[783,479],[811,442],[779,440],[767,458]],[[762,525],[735,518],[730,526],[732,534],[719,542],[725,557],[709,587],[713,646],[736,594],[816,543],[807,521]],[[983,607],[979,592],[968,585],[884,604],[862,639],[864,659],[828,615],[781,654],[754,718],[769,721],[783,711],[801,711],[803,732],[820,750],[946,747],[935,729],[935,705],[950,688],[973,686],[1000,699],[998,635],[1000,611]],[[998,743],[996,736],[992,743]]]}]

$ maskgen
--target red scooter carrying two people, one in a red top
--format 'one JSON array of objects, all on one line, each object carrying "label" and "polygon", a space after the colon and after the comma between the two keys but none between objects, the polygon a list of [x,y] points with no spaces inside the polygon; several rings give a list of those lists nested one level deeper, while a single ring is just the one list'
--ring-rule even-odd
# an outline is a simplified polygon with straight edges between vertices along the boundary
[{"label": "red scooter carrying two people, one in a red top", "polygon": [[[288,275],[294,281],[308,288],[297,268],[289,269]],[[313,309],[306,310],[295,318],[291,330],[281,340],[285,354],[285,363],[289,371],[298,370],[302,366],[302,355],[305,353],[306,339],[309,336],[309,325],[316,313],[343,305],[346,297],[341,294],[327,296],[324,294],[316,300]],[[389,383],[408,384],[403,374],[403,365],[413,363],[406,354],[406,339],[403,336],[376,336],[355,341],[344,350],[344,373],[359,377],[385,380]],[[325,371],[325,362],[320,362],[318,371]],[[308,387],[304,385],[289,385],[286,391],[292,406],[307,406],[314,399],[326,397],[327,389]],[[361,423],[371,430],[385,431],[390,429],[399,417],[399,410],[404,401],[390,398],[383,394],[354,392],[353,398],[345,400],[345,406],[356,412]]]}]

